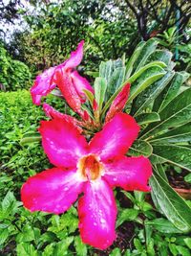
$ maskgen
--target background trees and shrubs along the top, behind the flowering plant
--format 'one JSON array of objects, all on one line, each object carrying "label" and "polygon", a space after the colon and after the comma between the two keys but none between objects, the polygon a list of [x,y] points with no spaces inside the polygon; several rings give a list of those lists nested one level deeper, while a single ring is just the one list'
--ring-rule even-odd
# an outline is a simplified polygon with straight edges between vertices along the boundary
[{"label": "background trees and shrubs along the top, behind the flowering plant", "polygon": [[154,36],[174,53],[177,69],[189,71],[190,15],[185,0],[3,0],[1,87],[30,87],[31,78],[67,58],[81,39],[86,45],[80,71],[89,76],[101,60],[124,53],[128,59],[140,40]]}]

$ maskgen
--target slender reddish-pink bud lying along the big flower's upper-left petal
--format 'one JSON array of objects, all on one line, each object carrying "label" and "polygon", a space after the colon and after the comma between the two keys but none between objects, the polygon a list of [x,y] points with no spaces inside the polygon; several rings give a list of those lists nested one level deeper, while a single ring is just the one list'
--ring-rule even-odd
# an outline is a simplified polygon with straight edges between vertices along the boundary
[{"label": "slender reddish-pink bud lying along the big flower's upper-left petal", "polygon": [[80,133],[82,133],[83,129],[80,128],[80,122],[75,119],[74,117],[67,115],[67,114],[62,114],[61,112],[55,110],[53,108],[53,106],[48,105],[48,104],[43,104],[43,110],[45,112],[45,114],[50,117],[50,118],[59,118],[59,119],[63,119],[68,123],[71,123],[74,125],[75,128],[77,128],[79,130]]}]

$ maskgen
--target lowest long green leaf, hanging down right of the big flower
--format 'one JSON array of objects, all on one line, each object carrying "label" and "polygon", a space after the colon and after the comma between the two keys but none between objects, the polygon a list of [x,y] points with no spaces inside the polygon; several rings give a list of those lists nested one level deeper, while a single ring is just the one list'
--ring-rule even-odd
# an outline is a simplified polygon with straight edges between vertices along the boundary
[{"label": "lowest long green leaf, hanging down right of the big flower", "polygon": [[191,230],[191,208],[171,186],[153,170],[150,178],[151,196],[156,207],[182,232]]}]

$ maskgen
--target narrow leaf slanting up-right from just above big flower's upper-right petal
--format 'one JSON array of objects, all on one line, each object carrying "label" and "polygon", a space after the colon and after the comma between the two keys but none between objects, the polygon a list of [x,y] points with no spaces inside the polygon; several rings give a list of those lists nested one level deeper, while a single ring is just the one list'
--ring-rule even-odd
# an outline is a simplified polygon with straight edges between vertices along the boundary
[{"label": "narrow leaf slanting up-right from just above big flower's upper-right petal", "polygon": [[169,81],[172,80],[174,74],[174,71],[167,72],[159,81],[154,82],[148,88],[143,90],[132,106],[132,113],[137,115],[138,113],[141,113],[143,108],[153,103],[159,93],[167,86]]}]

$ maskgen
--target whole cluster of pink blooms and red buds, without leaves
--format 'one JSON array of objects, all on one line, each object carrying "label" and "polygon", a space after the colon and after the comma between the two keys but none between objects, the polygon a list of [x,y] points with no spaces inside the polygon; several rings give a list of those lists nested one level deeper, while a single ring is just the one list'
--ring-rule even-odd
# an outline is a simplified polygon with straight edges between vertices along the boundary
[{"label": "whole cluster of pink blooms and red buds, without leaves", "polygon": [[[42,146],[53,168],[30,177],[21,189],[24,206],[31,211],[61,214],[78,198],[79,231],[83,243],[105,249],[116,239],[117,204],[113,188],[150,191],[150,161],[125,154],[138,137],[135,119],[123,113],[130,84],[126,84],[108,110],[104,125],[87,141],[84,127],[97,125],[81,107],[85,91],[95,94],[89,81],[74,68],[83,57],[81,41],[71,58],[39,75],[32,86],[32,102],[59,88],[67,104],[80,119],[60,113],[44,104],[50,121],[41,121]],[[97,104],[93,110],[96,115]],[[84,133],[84,134],[83,134]]]}]

